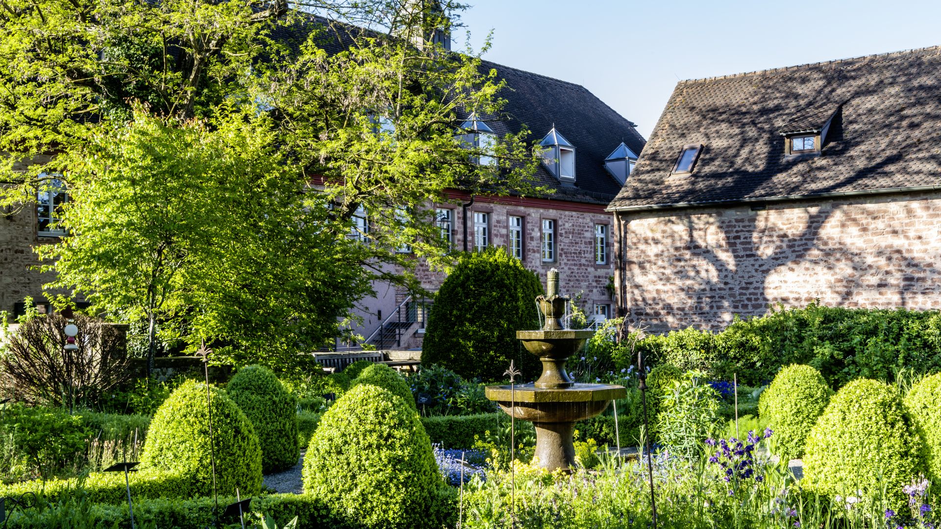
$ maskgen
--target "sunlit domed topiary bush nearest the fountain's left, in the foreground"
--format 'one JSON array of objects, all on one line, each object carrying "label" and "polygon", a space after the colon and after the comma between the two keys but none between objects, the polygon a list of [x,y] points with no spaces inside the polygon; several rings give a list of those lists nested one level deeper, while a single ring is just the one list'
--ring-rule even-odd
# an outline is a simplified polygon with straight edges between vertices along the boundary
[{"label": "sunlit domed topiary bush nearest the fountain's left, in the foreground", "polygon": [[304,458],[304,491],[371,529],[440,527],[444,482],[415,411],[360,384],[327,410]]}]

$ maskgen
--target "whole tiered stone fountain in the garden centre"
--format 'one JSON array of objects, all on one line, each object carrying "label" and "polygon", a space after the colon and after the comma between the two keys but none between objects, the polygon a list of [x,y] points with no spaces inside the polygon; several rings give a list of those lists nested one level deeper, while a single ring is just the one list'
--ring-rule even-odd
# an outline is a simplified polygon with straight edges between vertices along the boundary
[{"label": "whole tiered stone fountain in the garden centre", "polygon": [[546,323],[541,330],[518,330],[517,339],[542,361],[542,376],[532,384],[487,386],[486,398],[513,418],[533,423],[539,467],[567,471],[575,466],[575,423],[598,415],[612,400],[624,398],[627,390],[611,384],[575,383],[566,373],[568,357],[581,351],[595,331],[563,325],[568,298],[559,296],[555,268],[546,281],[546,296],[536,297],[536,302]]}]

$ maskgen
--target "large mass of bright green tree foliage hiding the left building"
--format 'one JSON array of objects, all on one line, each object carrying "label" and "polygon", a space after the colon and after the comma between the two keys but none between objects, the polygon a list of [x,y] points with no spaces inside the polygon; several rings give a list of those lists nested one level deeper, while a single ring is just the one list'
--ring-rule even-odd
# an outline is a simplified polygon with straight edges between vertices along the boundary
[{"label": "large mass of bright green tree foliage hiding the left building", "polygon": [[[425,207],[447,189],[538,191],[525,131],[486,149],[462,138],[469,112],[502,118],[495,72],[433,42],[464,6],[295,8],[13,0],[0,12],[0,205],[29,205],[63,175],[68,235],[40,252],[52,286],[146,320],[150,357],[158,322],[239,363],[324,345],[369,281],[414,286],[412,255],[453,263]],[[369,243],[352,245],[362,210]]]}]

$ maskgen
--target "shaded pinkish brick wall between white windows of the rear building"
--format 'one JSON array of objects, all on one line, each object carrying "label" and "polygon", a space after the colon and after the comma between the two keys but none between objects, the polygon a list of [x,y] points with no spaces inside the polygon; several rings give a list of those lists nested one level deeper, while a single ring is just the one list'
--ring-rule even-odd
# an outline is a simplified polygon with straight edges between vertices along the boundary
[{"label": "shaded pinkish brick wall between white windows of the rear building", "polygon": [[[464,248],[464,218],[461,202],[435,204],[439,208],[452,209],[452,240],[456,249]],[[490,220],[490,245],[505,247],[509,243],[509,216],[523,217],[523,264],[539,274],[545,284],[546,273],[551,268],[560,272],[559,288],[563,295],[575,297],[581,294],[582,308],[594,313],[596,305],[609,305],[614,310],[614,301],[608,289],[614,276],[614,216],[604,211],[602,205],[577,204],[551,200],[520,200],[481,198],[474,200],[468,208],[468,248],[473,249],[473,212],[486,212]],[[556,260],[543,263],[541,256],[541,220],[555,220]],[[595,263],[595,225],[608,226],[607,264]],[[425,288],[437,291],[444,281],[444,274],[432,272],[423,264],[416,270],[417,277]],[[398,300],[405,299],[399,293]],[[412,331],[403,347],[419,347],[423,334]]]}]

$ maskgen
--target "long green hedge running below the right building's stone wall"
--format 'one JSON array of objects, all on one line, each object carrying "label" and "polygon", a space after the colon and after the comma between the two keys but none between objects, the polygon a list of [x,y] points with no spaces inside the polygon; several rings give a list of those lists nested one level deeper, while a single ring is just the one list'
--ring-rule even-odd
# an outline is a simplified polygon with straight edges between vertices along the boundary
[{"label": "long green hedge running below the right building's stone wall", "polygon": [[[651,363],[701,369],[719,380],[738,374],[747,386],[767,384],[782,366],[806,364],[839,388],[860,377],[893,380],[901,368],[941,371],[941,312],[779,306],[764,316],[736,317],[719,333],[651,334],[637,347]],[[624,347],[613,355],[618,368],[636,358]]]}]

